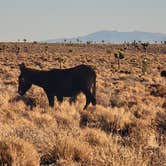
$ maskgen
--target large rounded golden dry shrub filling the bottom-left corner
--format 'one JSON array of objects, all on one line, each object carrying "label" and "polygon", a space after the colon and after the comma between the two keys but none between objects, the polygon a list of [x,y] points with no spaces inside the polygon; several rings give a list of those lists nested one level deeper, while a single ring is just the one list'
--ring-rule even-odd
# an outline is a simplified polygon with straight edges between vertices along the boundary
[{"label": "large rounded golden dry shrub filling the bottom-left corner", "polygon": [[22,139],[1,140],[0,164],[7,166],[39,166],[39,155],[32,144]]}]

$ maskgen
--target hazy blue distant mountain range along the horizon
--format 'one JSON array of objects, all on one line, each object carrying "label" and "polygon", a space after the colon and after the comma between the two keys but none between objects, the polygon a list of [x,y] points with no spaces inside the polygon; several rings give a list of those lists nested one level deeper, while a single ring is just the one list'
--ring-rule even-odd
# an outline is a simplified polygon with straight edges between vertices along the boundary
[{"label": "hazy blue distant mountain range along the horizon", "polygon": [[166,34],[162,33],[152,33],[152,32],[118,32],[118,31],[98,31],[91,33],[85,36],[78,36],[73,38],[60,38],[60,39],[50,39],[46,40],[48,43],[57,43],[57,42],[87,42],[92,41],[96,43],[123,43],[123,42],[133,42],[142,41],[142,42],[151,42],[155,41],[161,42],[166,41]]}]

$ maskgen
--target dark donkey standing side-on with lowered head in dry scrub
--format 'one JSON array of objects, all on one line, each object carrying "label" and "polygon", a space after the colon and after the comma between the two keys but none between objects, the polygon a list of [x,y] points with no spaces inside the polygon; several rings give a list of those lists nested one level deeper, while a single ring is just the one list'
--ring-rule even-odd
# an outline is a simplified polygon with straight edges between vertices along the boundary
[{"label": "dark donkey standing side-on with lowered head in dry scrub", "polygon": [[68,69],[48,71],[27,68],[24,63],[19,67],[21,74],[18,93],[21,96],[32,84],[35,84],[44,89],[51,107],[54,106],[54,96],[62,102],[63,97],[71,97],[71,100],[74,100],[80,92],[86,96],[84,109],[90,103],[96,105],[96,73],[90,66],[79,65]]}]

